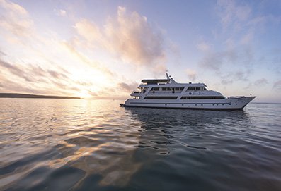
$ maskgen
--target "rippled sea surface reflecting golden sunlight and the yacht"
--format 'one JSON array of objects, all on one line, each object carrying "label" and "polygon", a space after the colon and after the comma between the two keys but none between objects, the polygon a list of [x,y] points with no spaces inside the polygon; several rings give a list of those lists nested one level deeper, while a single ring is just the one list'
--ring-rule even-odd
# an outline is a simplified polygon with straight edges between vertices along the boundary
[{"label": "rippled sea surface reflecting golden sunlight and the yacht", "polygon": [[281,190],[281,104],[0,99],[0,190]]}]

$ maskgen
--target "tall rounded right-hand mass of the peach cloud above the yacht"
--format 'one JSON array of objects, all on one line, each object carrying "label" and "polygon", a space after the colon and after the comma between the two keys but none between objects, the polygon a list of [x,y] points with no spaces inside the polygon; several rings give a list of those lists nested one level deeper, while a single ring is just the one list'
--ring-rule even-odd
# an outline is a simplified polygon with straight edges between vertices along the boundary
[{"label": "tall rounded right-hand mass of the peach cloud above the yacht", "polygon": [[127,14],[126,8],[118,7],[117,20],[110,19],[105,26],[105,35],[121,58],[128,62],[151,65],[164,61],[164,39],[160,32],[137,12]]}]

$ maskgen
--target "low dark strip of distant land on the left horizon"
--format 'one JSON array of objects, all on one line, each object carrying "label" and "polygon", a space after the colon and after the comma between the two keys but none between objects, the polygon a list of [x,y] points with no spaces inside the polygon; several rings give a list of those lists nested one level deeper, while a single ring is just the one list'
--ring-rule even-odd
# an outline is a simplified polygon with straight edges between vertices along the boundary
[{"label": "low dark strip of distant land on the left horizon", "polygon": [[37,95],[37,94],[10,94],[10,93],[0,93],[0,97],[38,98],[38,99],[81,99],[80,97],[69,97],[69,96],[51,96],[51,95]]}]

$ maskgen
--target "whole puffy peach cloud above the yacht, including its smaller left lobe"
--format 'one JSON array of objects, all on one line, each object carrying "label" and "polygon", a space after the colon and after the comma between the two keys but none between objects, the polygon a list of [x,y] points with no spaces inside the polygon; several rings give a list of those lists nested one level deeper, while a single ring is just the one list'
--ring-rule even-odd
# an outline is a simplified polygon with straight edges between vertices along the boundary
[{"label": "whole puffy peach cloud above the yacht, including its smaller left lobe", "polygon": [[126,63],[153,68],[166,61],[165,41],[160,30],[139,13],[127,13],[124,7],[118,7],[117,18],[108,18],[103,28],[86,19],[79,20],[74,28],[81,37]]}]

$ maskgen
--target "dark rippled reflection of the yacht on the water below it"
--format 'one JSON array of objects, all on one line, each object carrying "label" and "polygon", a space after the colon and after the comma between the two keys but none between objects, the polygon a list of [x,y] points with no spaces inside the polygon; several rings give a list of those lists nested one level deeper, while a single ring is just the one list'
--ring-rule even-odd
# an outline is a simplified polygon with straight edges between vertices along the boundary
[{"label": "dark rippled reflection of the yacht on the water below it", "polygon": [[[243,110],[217,112],[134,107],[125,110],[141,124],[142,133],[138,137],[138,147],[155,149],[154,152],[158,154],[169,154],[172,150],[183,146],[208,149],[214,146],[210,142],[224,142],[225,137],[235,134],[236,131],[247,132],[248,127],[251,126],[251,118]],[[222,132],[225,137],[219,138]]]}]

